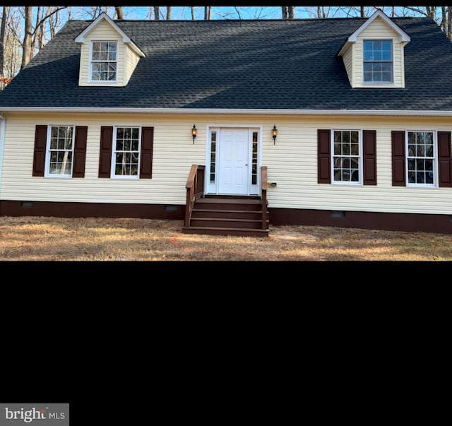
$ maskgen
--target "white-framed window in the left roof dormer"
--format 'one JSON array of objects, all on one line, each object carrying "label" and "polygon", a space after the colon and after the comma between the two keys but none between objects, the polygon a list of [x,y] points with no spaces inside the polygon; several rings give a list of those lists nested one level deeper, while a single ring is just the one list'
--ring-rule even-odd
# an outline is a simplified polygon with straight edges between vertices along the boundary
[{"label": "white-framed window in the left roof dormer", "polygon": [[91,81],[117,81],[117,42],[92,42]]}]

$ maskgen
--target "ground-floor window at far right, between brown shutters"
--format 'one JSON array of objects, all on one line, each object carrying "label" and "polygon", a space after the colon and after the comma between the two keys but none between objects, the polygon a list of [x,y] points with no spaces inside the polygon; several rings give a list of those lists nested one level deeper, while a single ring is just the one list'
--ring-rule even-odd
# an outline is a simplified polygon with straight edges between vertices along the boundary
[{"label": "ground-floor window at far right, between brown shutters", "polygon": [[408,186],[435,186],[435,132],[407,131],[406,143]]}]

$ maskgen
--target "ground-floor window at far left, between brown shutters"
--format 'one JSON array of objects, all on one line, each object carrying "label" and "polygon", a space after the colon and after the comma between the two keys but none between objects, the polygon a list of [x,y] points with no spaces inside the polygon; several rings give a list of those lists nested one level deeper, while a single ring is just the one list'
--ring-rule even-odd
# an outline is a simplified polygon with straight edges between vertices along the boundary
[{"label": "ground-floor window at far left, between brown shutters", "polygon": [[48,126],[45,175],[71,177],[73,167],[74,126]]}]

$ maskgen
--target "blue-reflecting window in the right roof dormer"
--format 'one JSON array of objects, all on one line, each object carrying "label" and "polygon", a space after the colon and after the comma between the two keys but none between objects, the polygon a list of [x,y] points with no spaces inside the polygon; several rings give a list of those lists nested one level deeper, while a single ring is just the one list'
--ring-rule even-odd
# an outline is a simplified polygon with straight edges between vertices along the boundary
[{"label": "blue-reflecting window in the right roof dormer", "polygon": [[392,40],[363,40],[364,83],[393,83]]}]

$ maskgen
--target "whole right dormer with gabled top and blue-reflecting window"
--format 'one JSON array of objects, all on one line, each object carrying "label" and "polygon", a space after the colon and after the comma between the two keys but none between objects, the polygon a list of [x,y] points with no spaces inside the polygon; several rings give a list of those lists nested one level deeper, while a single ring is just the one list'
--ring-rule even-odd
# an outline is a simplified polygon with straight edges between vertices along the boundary
[{"label": "whole right dormer with gabled top and blue-reflecting window", "polygon": [[376,11],[340,49],[352,88],[405,88],[403,48],[410,36]]}]

